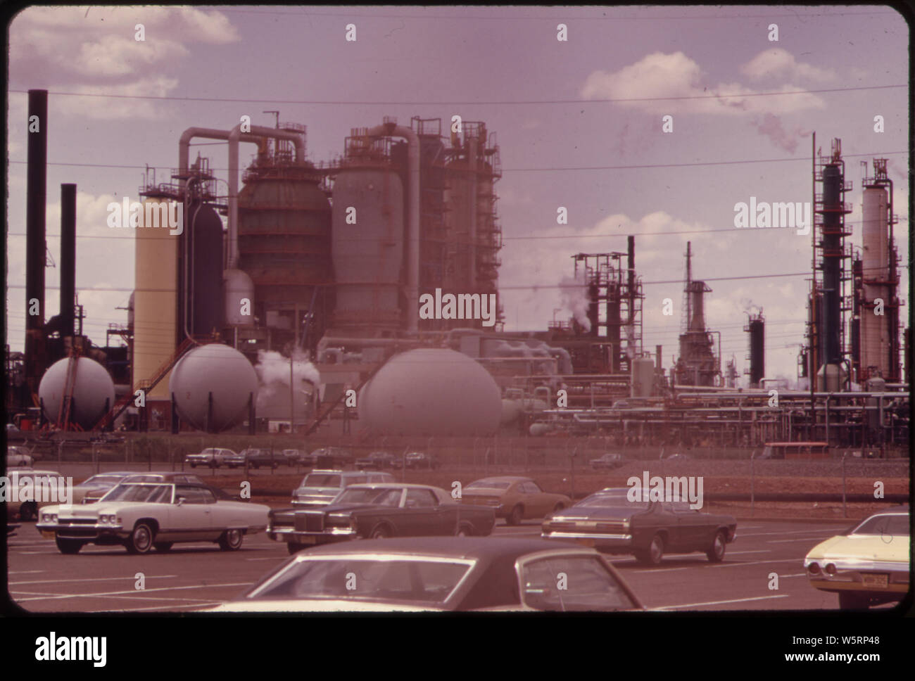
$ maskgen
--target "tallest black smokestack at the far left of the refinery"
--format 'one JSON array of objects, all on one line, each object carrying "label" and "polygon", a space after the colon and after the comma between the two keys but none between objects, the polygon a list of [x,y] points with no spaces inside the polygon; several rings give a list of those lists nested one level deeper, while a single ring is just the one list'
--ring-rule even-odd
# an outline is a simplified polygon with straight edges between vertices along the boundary
[{"label": "tallest black smokestack at the far left of the refinery", "polygon": [[[48,90],[28,90],[26,187],[26,379],[38,391],[44,367],[45,202],[48,185]],[[35,314],[29,314],[35,313]]]}]

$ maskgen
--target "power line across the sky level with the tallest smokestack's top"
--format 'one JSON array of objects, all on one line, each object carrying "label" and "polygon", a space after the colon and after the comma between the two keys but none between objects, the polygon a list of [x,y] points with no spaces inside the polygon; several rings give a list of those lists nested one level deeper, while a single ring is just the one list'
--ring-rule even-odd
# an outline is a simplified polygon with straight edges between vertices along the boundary
[{"label": "power line across the sky level with the tallest smokestack's top", "polygon": [[[625,103],[630,101],[687,101],[687,100],[739,100],[746,97],[783,97],[799,94],[825,94],[827,92],[851,92],[855,90],[889,90],[894,88],[908,88],[908,84],[901,85],[859,85],[851,88],[824,88],[821,90],[785,90],[783,92],[748,92],[743,94],[701,94],[681,95],[679,97],[629,97],[619,99],[589,99],[589,100],[502,100],[502,101],[346,101],[346,100],[257,100],[228,97],[169,97],[167,95],[138,95],[138,94],[105,94],[102,92],[60,92],[48,91],[49,95],[56,97],[102,97],[116,100],[155,100],[155,101],[219,101],[243,104],[307,104],[333,105],[333,106],[508,106],[512,104],[608,104]],[[7,90],[16,94],[25,94],[28,90]]]}]

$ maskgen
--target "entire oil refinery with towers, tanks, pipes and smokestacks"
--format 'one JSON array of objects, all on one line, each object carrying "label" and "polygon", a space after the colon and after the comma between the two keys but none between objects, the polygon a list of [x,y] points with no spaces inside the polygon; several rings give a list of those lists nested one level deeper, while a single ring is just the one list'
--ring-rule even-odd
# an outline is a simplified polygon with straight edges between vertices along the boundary
[{"label": "entire oil refinery with towers, tanks, pipes and smokestacks", "polygon": [[[29,90],[28,112],[47,118],[47,90]],[[829,154],[814,154],[811,285],[806,312],[798,310],[807,332],[797,339],[798,378],[809,389],[767,376],[761,308],[746,319],[740,387],[734,359],[722,367],[720,330],[706,320],[715,292],[697,278],[711,272],[694,271],[692,244],[673,364],[665,366],[662,346],[642,343],[635,236],[625,252],[570,259],[584,314],[508,332],[496,133],[485,122],[446,134],[441,119],[364,123],[319,163],[307,160],[306,125],[278,113],[274,127],[181,133],[177,167],[164,181],[147,172],[139,187],[128,322],[111,325],[103,342],[83,335],[75,304],[72,184],[61,185],[60,306],[48,318],[48,141],[44,127],[29,134],[29,313],[24,352],[7,346],[8,420],[59,434],[253,434],[279,422],[341,442],[601,434],[673,445],[907,446],[910,329],[900,325],[886,159],[865,164],[857,195],[838,139]],[[195,139],[228,145],[227,177],[210,159],[191,158]],[[256,147],[247,167],[242,143]],[[858,196],[856,241],[845,216]],[[180,229],[162,229],[176,205]],[[424,296],[449,295],[471,312],[420,314]],[[487,323],[472,311],[490,301]],[[285,388],[269,388],[268,376]]]}]

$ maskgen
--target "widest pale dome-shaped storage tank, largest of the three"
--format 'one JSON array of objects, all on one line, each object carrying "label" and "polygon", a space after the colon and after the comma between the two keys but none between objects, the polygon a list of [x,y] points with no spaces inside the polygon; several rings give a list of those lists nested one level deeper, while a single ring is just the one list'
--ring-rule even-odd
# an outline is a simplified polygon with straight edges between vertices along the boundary
[{"label": "widest pale dome-shaped storage tank, largest of the three", "polygon": [[372,435],[491,435],[501,413],[489,372],[447,349],[393,356],[359,394],[359,419]]}]

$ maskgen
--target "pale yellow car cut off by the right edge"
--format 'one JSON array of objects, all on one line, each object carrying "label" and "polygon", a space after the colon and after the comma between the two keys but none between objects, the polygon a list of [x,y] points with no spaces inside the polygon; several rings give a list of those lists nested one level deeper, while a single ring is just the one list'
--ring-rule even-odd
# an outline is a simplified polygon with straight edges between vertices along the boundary
[{"label": "pale yellow car cut off by the right edge", "polygon": [[839,595],[844,610],[900,601],[909,592],[909,506],[867,517],[817,544],[803,567],[811,586]]}]

